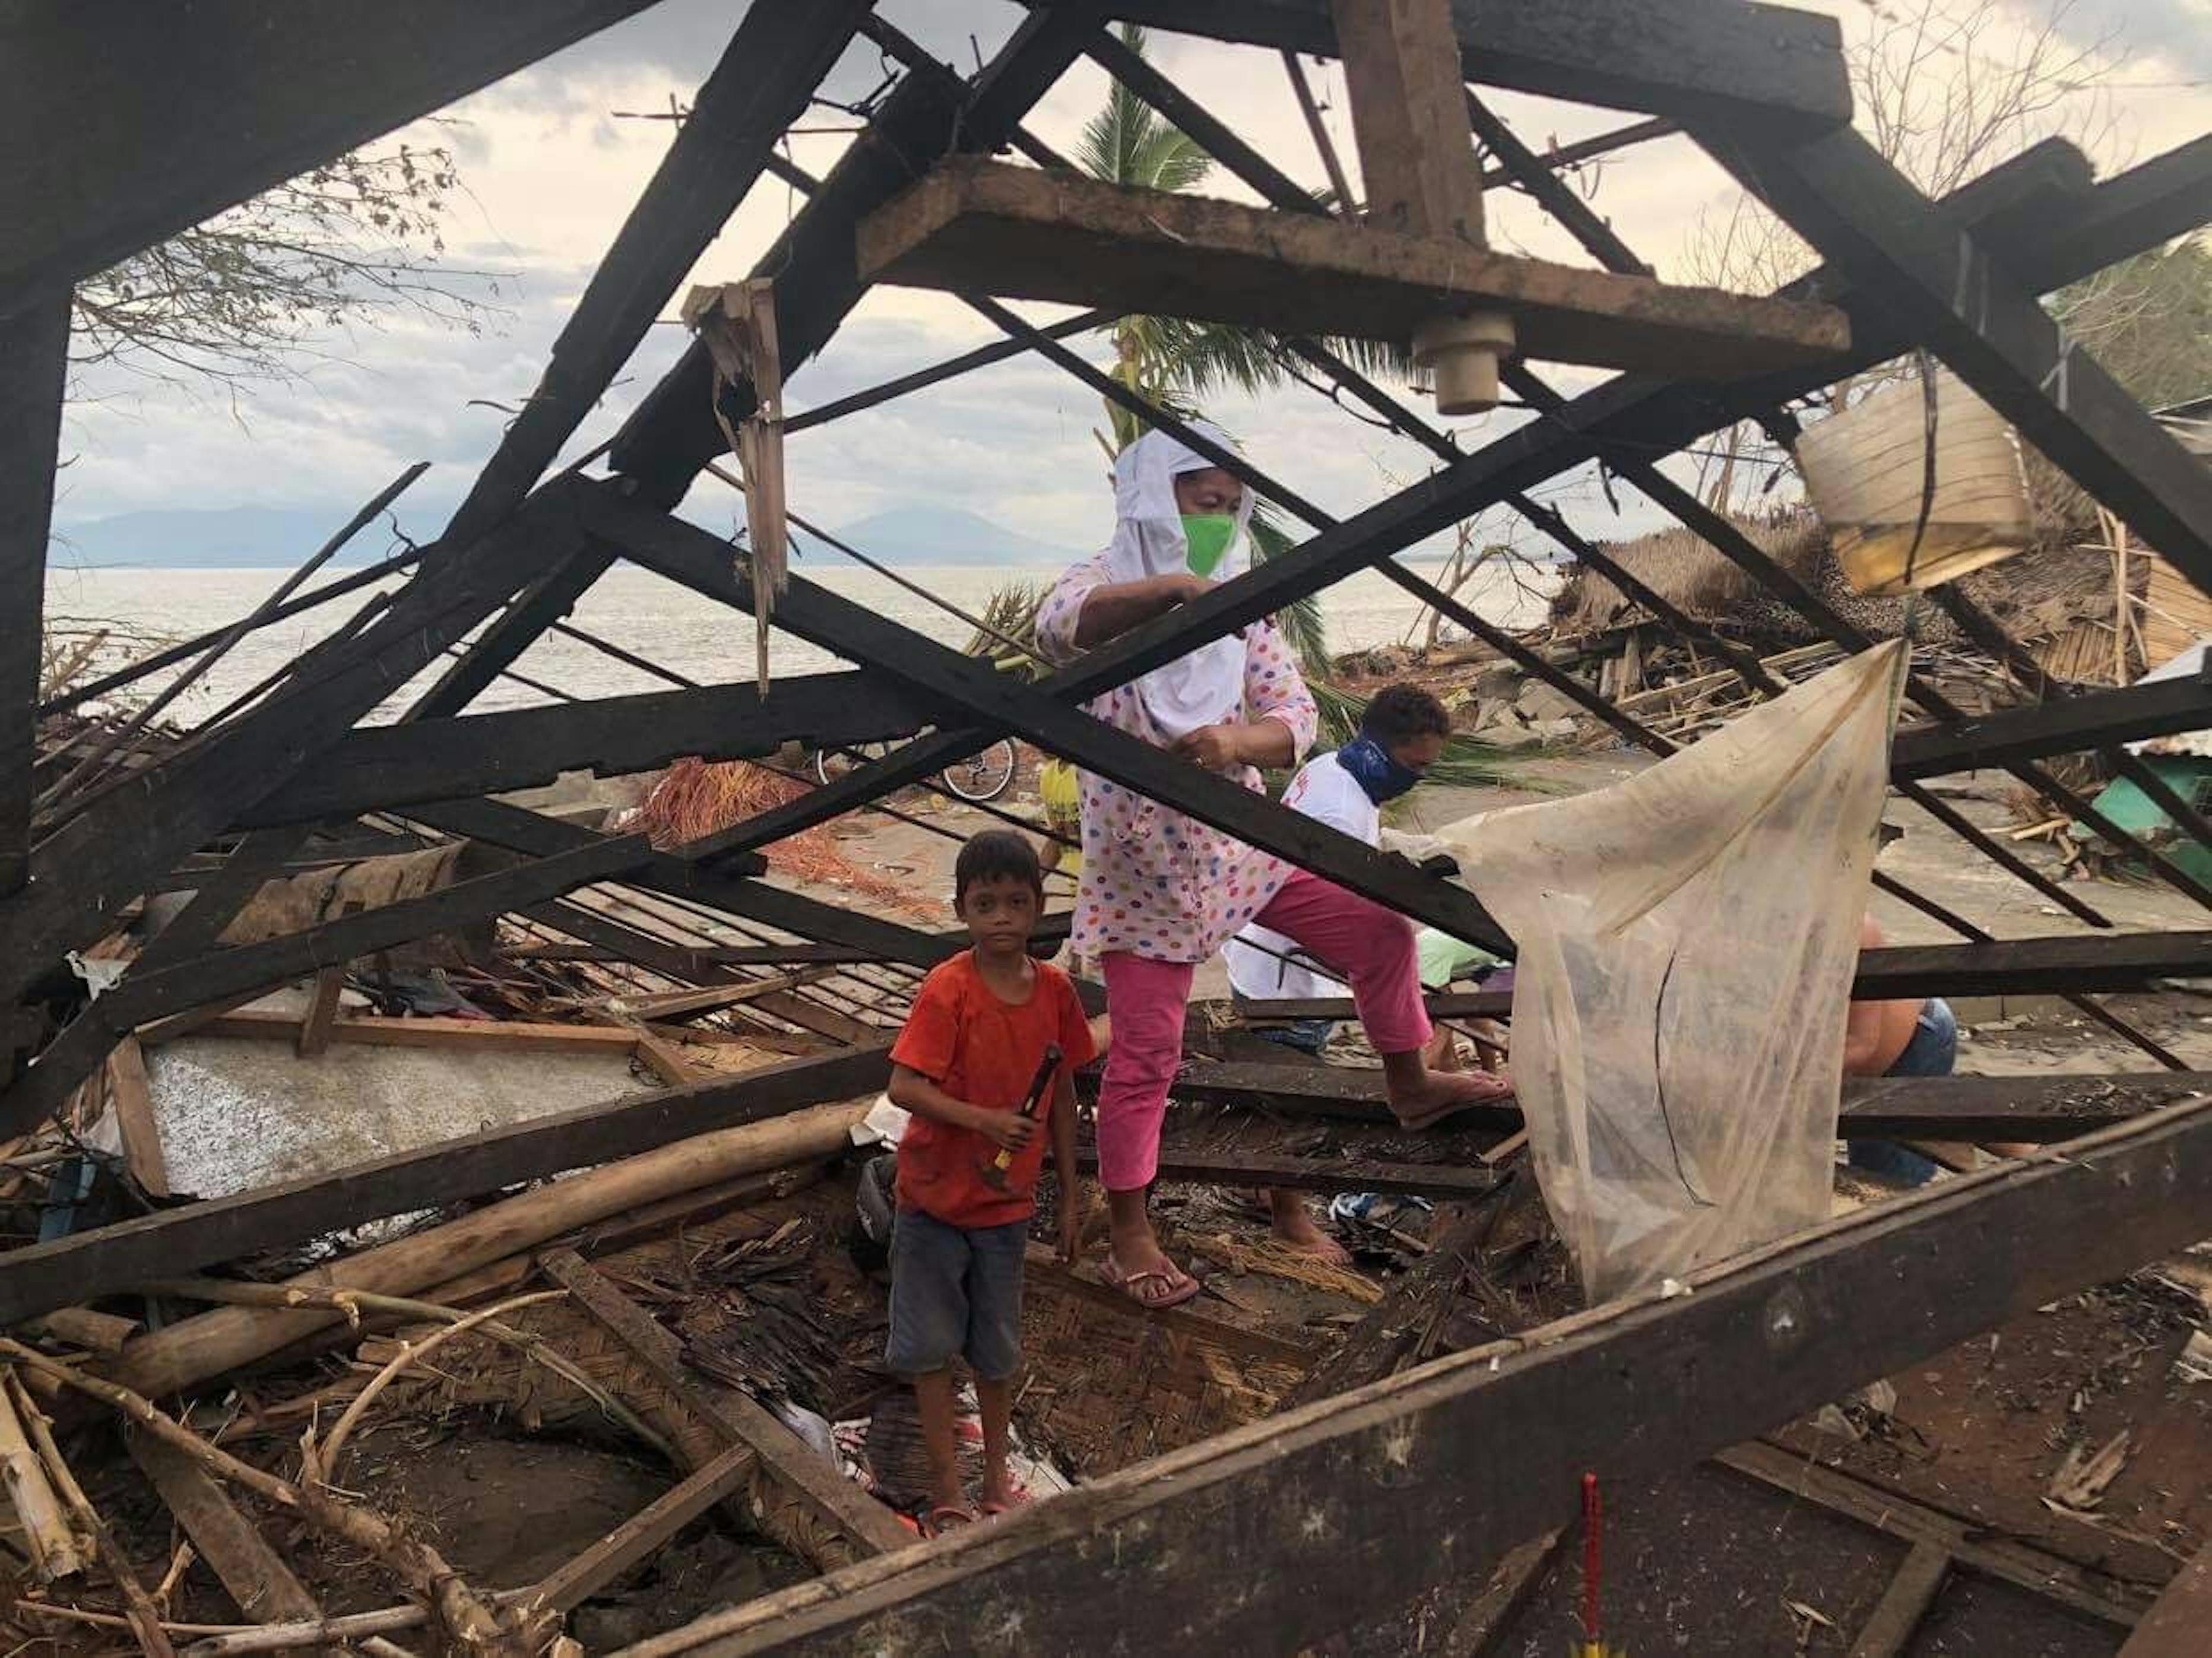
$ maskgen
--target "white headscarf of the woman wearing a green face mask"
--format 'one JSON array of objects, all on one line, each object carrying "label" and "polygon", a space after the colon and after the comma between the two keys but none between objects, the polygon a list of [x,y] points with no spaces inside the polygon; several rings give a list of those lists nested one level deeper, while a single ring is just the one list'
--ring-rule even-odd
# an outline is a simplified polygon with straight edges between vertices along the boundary
[{"label": "white headscarf of the woman wearing a green face mask", "polygon": [[[1223,449],[1230,447],[1219,427],[1192,420],[1190,429]],[[1175,480],[1212,464],[1166,431],[1148,431],[1121,451],[1113,466],[1115,528],[1113,546],[1106,548],[1108,581],[1146,581],[1190,570],[1190,544],[1183,539],[1183,515],[1175,506]],[[1250,520],[1248,489],[1237,500],[1237,537],[1214,566],[1217,584],[1243,573],[1250,559]],[[1201,725],[1234,721],[1243,712],[1243,632],[1232,632],[1144,674],[1137,681],[1137,696],[1170,738],[1188,736]]]}]

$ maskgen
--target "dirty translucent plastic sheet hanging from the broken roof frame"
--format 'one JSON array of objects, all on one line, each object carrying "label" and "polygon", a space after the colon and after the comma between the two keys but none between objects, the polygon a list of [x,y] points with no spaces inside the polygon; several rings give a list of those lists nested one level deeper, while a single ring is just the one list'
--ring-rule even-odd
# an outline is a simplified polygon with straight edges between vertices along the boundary
[{"label": "dirty translucent plastic sheet hanging from the broken roof frame", "polygon": [[1517,946],[1513,1081],[1593,1302],[1825,1220],[1902,643],[1438,838]]}]

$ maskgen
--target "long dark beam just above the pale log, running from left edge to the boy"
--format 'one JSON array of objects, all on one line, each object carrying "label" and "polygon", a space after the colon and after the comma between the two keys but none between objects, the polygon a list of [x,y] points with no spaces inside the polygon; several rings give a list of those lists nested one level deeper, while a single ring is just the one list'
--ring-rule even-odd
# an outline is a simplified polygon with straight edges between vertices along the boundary
[{"label": "long dark beam just above the pale log, running from left edge to the boy", "polygon": [[0,1324],[299,1242],[316,1231],[458,1203],[708,1130],[856,1099],[883,1088],[889,1074],[885,1048],[794,1059],[688,1088],[624,1094],[332,1174],[11,1249],[0,1253]]}]

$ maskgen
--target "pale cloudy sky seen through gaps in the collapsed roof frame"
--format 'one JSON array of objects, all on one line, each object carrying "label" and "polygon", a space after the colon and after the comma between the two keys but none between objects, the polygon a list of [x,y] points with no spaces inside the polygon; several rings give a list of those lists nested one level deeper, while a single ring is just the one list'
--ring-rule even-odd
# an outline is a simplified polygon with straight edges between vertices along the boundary
[{"label": "pale cloudy sky seen through gaps in the collapsed roof frame", "polygon": [[[1927,0],[1801,0],[1843,18],[1854,42],[1893,33]],[[1969,7],[1971,0],[1942,0]],[[1989,71],[2017,51],[2024,31],[2051,20],[2048,0],[1982,0],[1986,29],[1969,53],[1938,55],[1938,75]],[[1020,22],[1006,0],[883,0],[883,15],[940,57],[971,66]],[[115,378],[82,387],[69,418],[55,517],[64,526],[139,508],[285,506],[341,522],[354,504],[414,460],[434,462],[414,491],[409,528],[434,531],[498,440],[502,413],[535,382],[555,332],[597,256],[670,139],[670,124],[622,119],[619,111],[666,108],[706,75],[734,18],[732,0],[661,0],[639,18],[586,40],[445,111],[438,126],[409,133],[442,141],[467,186],[447,225],[449,259],[502,272],[502,312],[478,338],[394,318],[321,343],[296,385],[265,385],[237,405]],[[2086,133],[2099,170],[2154,155],[2212,128],[2212,0],[2075,0],[2059,15],[2068,46],[2090,53],[2084,77],[2119,91],[2081,91],[2039,117]],[[1159,35],[1152,57],[1237,126],[1292,177],[1321,186],[1323,170],[1270,53]],[[1312,66],[1329,124],[1352,164],[1340,77]],[[830,82],[858,97],[880,80],[872,46],[858,44]],[[1104,77],[1077,64],[1031,117],[1031,128],[1066,148],[1099,106]],[[1515,130],[1542,148],[1621,124],[1621,113],[1498,95]],[[821,172],[847,141],[838,111],[814,111],[794,157]],[[2037,133],[2039,135],[2039,133]],[[1584,181],[1595,203],[1661,274],[1688,270],[1701,217],[1725,217],[1734,188],[1686,139],[1644,146]],[[1230,181],[1219,195],[1248,195]],[[1491,195],[1500,245],[1588,263],[1520,197]],[[794,195],[763,181],[708,248],[695,279],[741,276],[796,212]],[[1033,309],[1044,318],[1057,312]],[[790,380],[794,409],[843,396],[993,338],[956,301],[918,290],[876,290],[827,351]],[[641,387],[672,360],[672,323],[653,329],[577,449],[608,436]],[[1097,340],[1086,343],[1104,358]],[[1590,376],[1559,371],[1562,385]],[[1427,466],[1427,453],[1354,422],[1301,387],[1230,398],[1217,418],[1254,460],[1332,511],[1354,511]],[[1517,416],[1460,422],[1475,444]],[[827,524],[876,511],[931,504],[984,513],[1064,546],[1095,546],[1108,522],[1097,444],[1097,400],[1044,363],[1013,360],[883,409],[792,438],[792,504]],[[701,515],[726,513],[719,484],[692,495]],[[1639,528],[1586,484],[1562,491],[1593,535]]]}]

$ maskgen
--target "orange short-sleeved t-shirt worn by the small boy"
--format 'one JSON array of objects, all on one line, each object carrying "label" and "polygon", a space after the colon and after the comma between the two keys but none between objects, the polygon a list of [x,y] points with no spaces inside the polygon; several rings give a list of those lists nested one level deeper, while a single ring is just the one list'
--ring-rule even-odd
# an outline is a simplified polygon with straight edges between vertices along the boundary
[{"label": "orange short-sleeved t-shirt worn by the small boy", "polygon": [[[947,1094],[987,1112],[1015,1112],[1044,1059],[1060,1043],[1060,1068],[1091,1063],[1091,1024],[1075,984],[1051,962],[1037,962],[1029,1001],[1000,1001],[975,970],[975,953],[960,951],[922,979],[907,1028],[891,1043],[891,1063],[918,1070]],[[931,1123],[916,1114],[898,1141],[898,1207],[920,1209],[949,1227],[1000,1227],[1029,1220],[1037,1209],[1037,1169],[1051,1138],[1051,1090],[1037,1112],[1035,1138],[1013,1156],[1006,1189],[987,1185],[980,1165],[998,1147],[967,1127]]]}]

